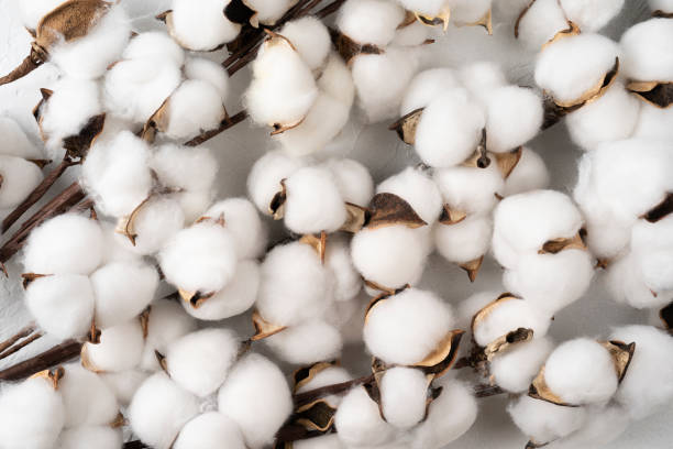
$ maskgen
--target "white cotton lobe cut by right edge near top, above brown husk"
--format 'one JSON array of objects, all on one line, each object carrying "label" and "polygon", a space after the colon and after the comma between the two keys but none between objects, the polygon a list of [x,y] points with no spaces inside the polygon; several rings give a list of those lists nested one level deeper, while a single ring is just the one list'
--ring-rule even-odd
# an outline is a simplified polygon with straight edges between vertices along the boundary
[{"label": "white cotton lobe cut by right edge near top, above brown husk", "polygon": [[622,73],[637,81],[673,81],[671,41],[673,23],[650,19],[637,23],[621,36]]}]

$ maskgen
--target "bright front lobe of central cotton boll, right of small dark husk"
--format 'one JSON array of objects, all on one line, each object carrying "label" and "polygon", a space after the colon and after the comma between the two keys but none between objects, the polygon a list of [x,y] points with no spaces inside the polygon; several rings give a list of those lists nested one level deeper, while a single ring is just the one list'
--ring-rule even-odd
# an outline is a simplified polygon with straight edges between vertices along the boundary
[{"label": "bright front lobe of central cotton boll, right of small dark husk", "polygon": [[334,232],[346,219],[345,202],[330,171],[304,167],[285,182],[285,226],[299,234]]}]

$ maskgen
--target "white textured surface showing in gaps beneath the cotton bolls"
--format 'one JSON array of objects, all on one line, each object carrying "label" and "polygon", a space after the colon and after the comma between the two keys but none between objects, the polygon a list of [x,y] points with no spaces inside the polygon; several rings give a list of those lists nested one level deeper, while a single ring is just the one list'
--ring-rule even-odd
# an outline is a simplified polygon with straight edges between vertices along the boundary
[{"label": "white textured surface showing in gaps beneath the cotton bolls", "polygon": [[[500,0],[507,1],[507,0]],[[157,28],[151,19],[154,14],[167,9],[166,0],[123,0],[132,17],[139,18],[133,28],[136,31],[147,25]],[[633,18],[640,19],[647,14],[641,1],[628,1],[627,10],[615,23],[608,25],[607,34],[618,37],[624,23],[631,23]],[[496,28],[497,39],[488,37],[482,29],[461,29],[450,31],[449,35],[431,46],[427,63],[433,66],[450,65],[468,59],[490,58],[500,61],[507,68],[512,81],[521,85],[531,84],[530,55],[512,52],[507,40],[511,35],[509,29]],[[16,11],[16,0],[0,0],[0,73],[13,68],[29,51],[30,36],[22,29]],[[208,54],[214,61],[223,61],[224,53]],[[55,79],[56,69],[46,65],[35,70],[18,83],[0,87],[0,113],[7,113],[20,121],[29,130],[35,142],[38,142],[37,130],[31,116],[33,106],[40,94],[37,88],[48,87]],[[240,110],[240,97],[247,84],[249,73],[242,70],[232,79],[232,92],[227,105],[230,113]],[[372,171],[375,179],[396,173],[400,167],[417,162],[413,151],[399,142],[395,133],[386,130],[388,123],[363,127],[360,124],[360,113],[354,110],[353,120],[346,125],[338,140],[332,143],[324,155],[342,154],[363,162]],[[249,122],[239,124],[208,143],[220,162],[218,186],[220,197],[245,194],[245,178],[254,161],[271,147],[267,130],[253,129]],[[564,125],[556,125],[539,135],[531,145],[549,165],[552,187],[570,191],[576,177],[576,161],[580,151],[575,149]],[[62,179],[52,191],[67,186],[71,182]],[[282,236],[282,229],[274,225],[272,239]],[[23,306],[19,275],[21,267],[16,260],[8,269],[10,280],[0,281],[0,340],[12,335],[30,321],[30,316]],[[500,269],[492,259],[485,261],[484,267],[474,284],[467,282],[467,276],[455,265],[450,265],[440,256],[432,255],[421,287],[438,292],[452,304],[456,304],[467,295],[484,289],[500,288]],[[599,273],[588,293],[577,303],[558,314],[551,326],[550,335],[556,341],[573,337],[606,337],[609,329],[621,324],[647,322],[648,314],[638,311],[611,302],[600,284]],[[247,316],[245,316],[247,318]],[[229,322],[228,322],[229,324]],[[242,333],[250,333],[249,321],[239,319],[232,326]],[[44,337],[35,344],[21,351],[16,357],[0,361],[0,369],[16,360],[27,358],[32,353],[55,343],[54,339]],[[362,355],[361,348],[351,348],[344,353],[343,363],[352,368],[355,374],[364,374],[368,360]],[[289,370],[286,370],[289,372]],[[479,401],[479,415],[475,426],[461,439],[452,443],[456,449],[501,448],[521,449],[527,438],[519,434],[505,413],[505,397]],[[673,407],[644,421],[632,425],[609,449],[664,449],[671,447],[671,423]]]}]

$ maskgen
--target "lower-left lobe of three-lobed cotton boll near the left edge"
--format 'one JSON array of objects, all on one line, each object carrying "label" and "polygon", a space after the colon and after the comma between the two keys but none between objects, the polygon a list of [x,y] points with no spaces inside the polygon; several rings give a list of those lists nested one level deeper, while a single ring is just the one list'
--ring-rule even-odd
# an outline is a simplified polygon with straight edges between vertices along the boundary
[{"label": "lower-left lobe of three-lobed cotton boll near the left edge", "polygon": [[56,338],[87,333],[93,317],[93,291],[87,276],[55,274],[31,282],[25,305],[42,329]]}]

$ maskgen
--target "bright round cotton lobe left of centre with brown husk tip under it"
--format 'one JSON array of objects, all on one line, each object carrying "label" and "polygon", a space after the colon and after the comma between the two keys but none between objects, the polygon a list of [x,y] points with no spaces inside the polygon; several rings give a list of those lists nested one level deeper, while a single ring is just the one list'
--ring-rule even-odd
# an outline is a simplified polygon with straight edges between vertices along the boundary
[{"label": "bright round cotton lobe left of centre with brown husk tip under it", "polygon": [[231,232],[205,221],[176,233],[158,259],[170,284],[187,292],[211,293],[231,281],[236,251]]}]

